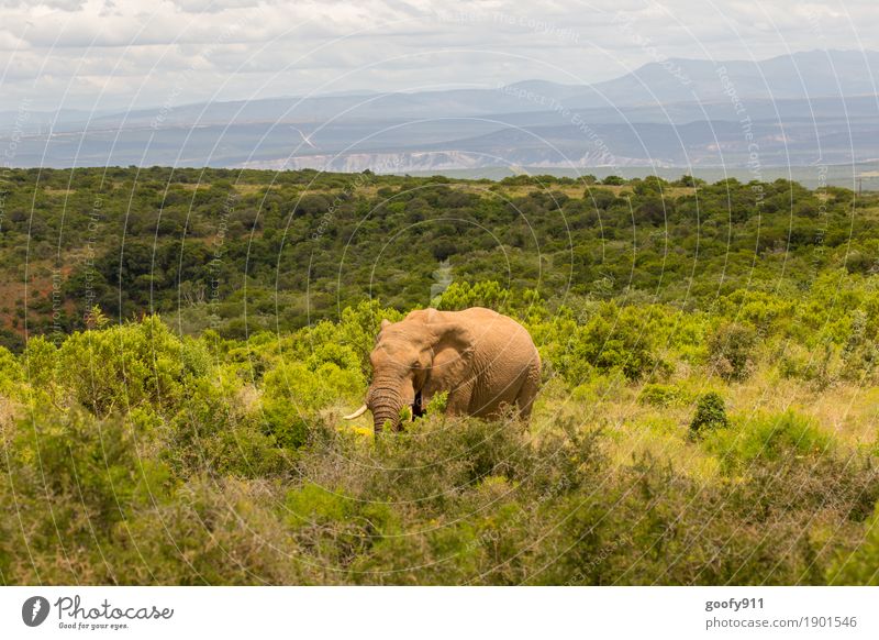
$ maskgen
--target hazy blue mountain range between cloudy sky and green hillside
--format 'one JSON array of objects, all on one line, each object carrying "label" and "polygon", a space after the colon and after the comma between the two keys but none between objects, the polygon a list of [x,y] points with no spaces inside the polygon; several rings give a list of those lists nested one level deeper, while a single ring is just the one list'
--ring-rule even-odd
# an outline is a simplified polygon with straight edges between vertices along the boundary
[{"label": "hazy blue mountain range between cloudy sky and green hillside", "polygon": [[878,79],[879,52],[869,51],[658,59],[594,85],[2,111],[0,145],[14,147],[13,166],[730,167],[759,178],[764,168],[879,157]]}]

